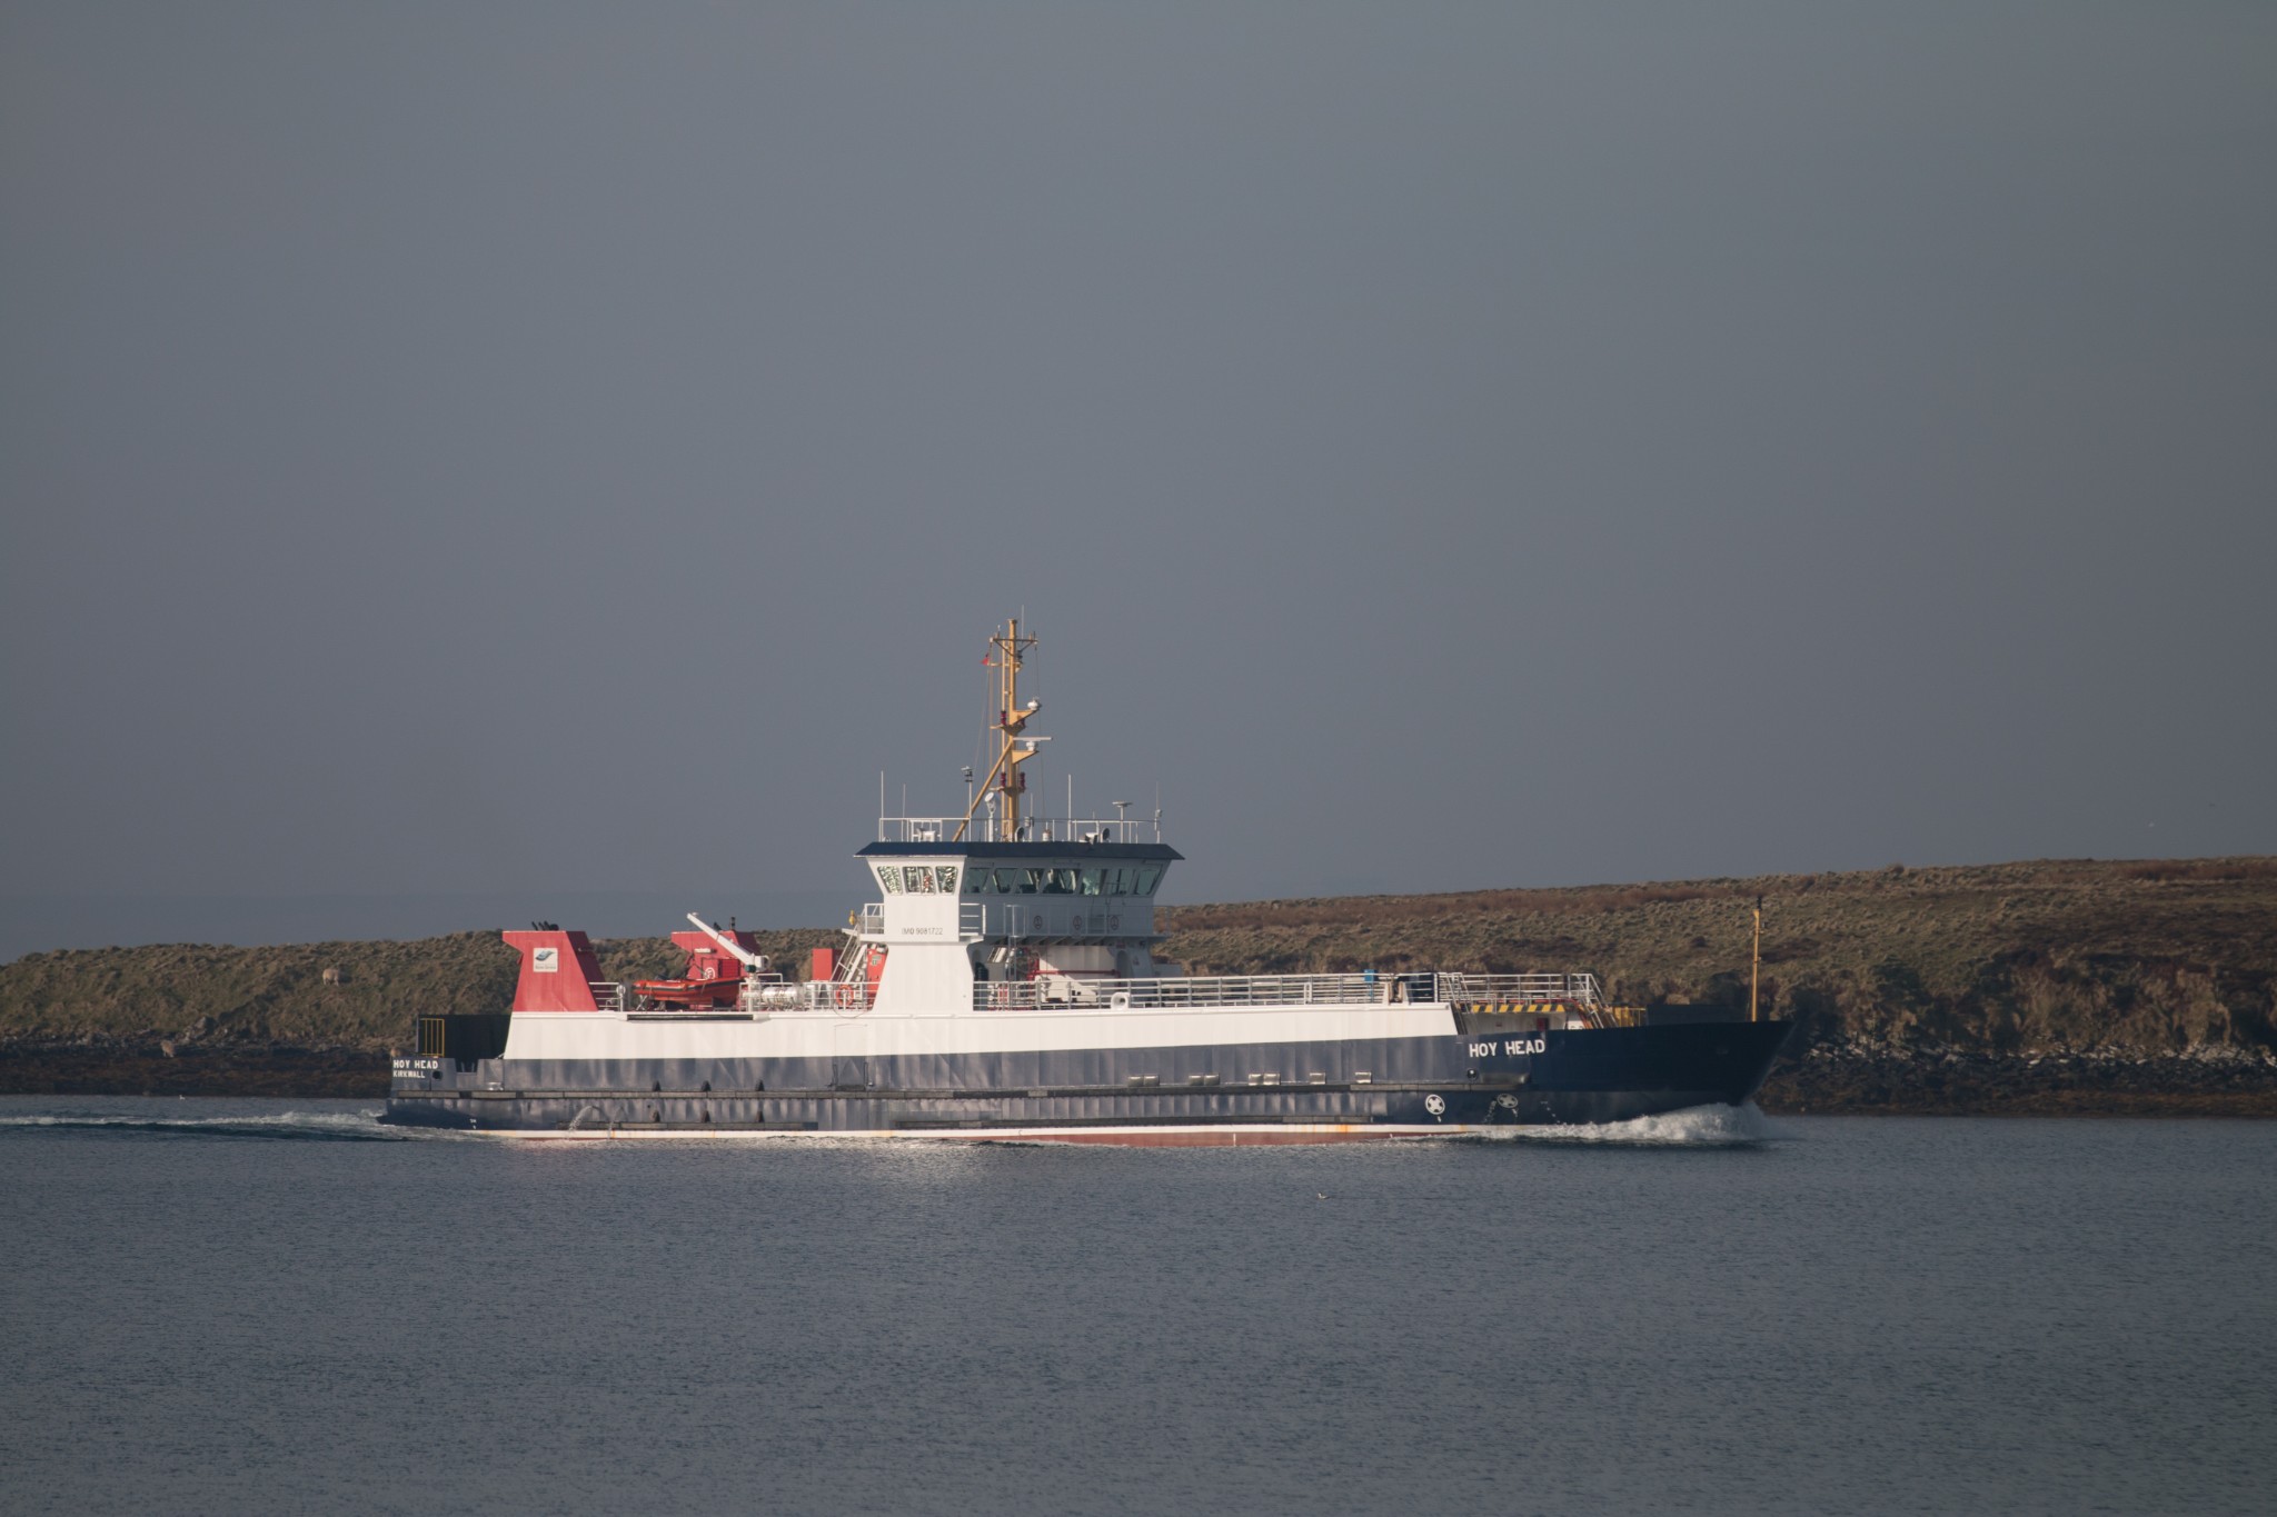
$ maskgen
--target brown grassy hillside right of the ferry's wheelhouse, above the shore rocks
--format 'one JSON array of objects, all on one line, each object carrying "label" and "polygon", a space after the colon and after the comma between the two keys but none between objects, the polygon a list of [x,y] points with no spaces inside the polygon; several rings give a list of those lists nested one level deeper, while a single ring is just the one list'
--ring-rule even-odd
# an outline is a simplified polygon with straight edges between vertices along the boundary
[{"label": "brown grassy hillside right of the ferry's wheelhouse, above the shore rocks", "polygon": [[1614,1001],[1762,998],[1812,1042],[2270,1048],[2277,860],[2031,862],[1168,912],[1198,973],[1592,969]]}]

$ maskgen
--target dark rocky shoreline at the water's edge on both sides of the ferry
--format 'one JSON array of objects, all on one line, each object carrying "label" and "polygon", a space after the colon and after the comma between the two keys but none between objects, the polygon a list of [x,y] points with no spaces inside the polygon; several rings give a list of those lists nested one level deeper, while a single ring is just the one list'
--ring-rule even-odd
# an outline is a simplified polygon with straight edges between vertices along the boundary
[{"label": "dark rocky shoreline at the water's edge on both sides of the ferry", "polygon": [[[387,1055],[346,1046],[80,1037],[0,1042],[9,1096],[387,1096]],[[2277,1058],[1974,1053],[1815,1044],[1762,1087],[1774,1117],[2277,1117]]]}]

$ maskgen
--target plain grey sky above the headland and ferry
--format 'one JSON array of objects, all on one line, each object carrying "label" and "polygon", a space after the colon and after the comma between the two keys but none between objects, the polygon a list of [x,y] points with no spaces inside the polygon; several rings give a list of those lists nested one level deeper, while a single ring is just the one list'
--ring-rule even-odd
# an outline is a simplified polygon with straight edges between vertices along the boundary
[{"label": "plain grey sky above the headland and ferry", "polygon": [[1022,605],[1182,898],[2277,851],[2272,173],[2266,5],[7,0],[0,892],[854,898]]}]

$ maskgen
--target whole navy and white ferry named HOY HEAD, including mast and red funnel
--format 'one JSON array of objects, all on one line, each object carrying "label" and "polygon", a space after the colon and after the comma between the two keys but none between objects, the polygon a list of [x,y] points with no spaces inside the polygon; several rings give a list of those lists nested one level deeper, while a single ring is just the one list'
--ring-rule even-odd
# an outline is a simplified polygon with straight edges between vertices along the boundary
[{"label": "whole navy and white ferry named HOY HEAD, including mast and red funnel", "polygon": [[[1612,1005],[1587,971],[1191,976],[1157,958],[1161,814],[1038,814],[1047,741],[988,639],[995,764],[961,816],[886,816],[877,898],[783,973],[690,914],[685,969],[608,983],[583,932],[505,932],[512,1008],[417,1017],[383,1121],[524,1139],[1314,1144],[1740,1105],[1785,1021]],[[970,778],[970,771],[968,771]],[[904,807],[906,810],[906,807]],[[1072,812],[1072,807],[1070,807]]]}]

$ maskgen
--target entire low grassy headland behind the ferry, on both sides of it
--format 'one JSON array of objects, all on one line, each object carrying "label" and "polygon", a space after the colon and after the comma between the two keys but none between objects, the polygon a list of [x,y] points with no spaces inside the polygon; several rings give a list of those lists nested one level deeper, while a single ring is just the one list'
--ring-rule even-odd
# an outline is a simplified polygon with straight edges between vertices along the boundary
[{"label": "entire low grassy headland behind the ferry, on both sides of it", "polygon": [[[1758,896],[1762,1001],[1799,1023],[1772,1110],[2277,1114],[2268,857],[1261,901],[1161,926],[1195,973],[1594,969],[1624,1003],[1742,1008]],[[763,942],[799,964],[838,935]],[[679,967],[667,939],[597,948],[608,978]],[[32,953],[0,964],[0,1089],[380,1092],[412,1017],[503,1008],[512,983],[494,932]]]}]

